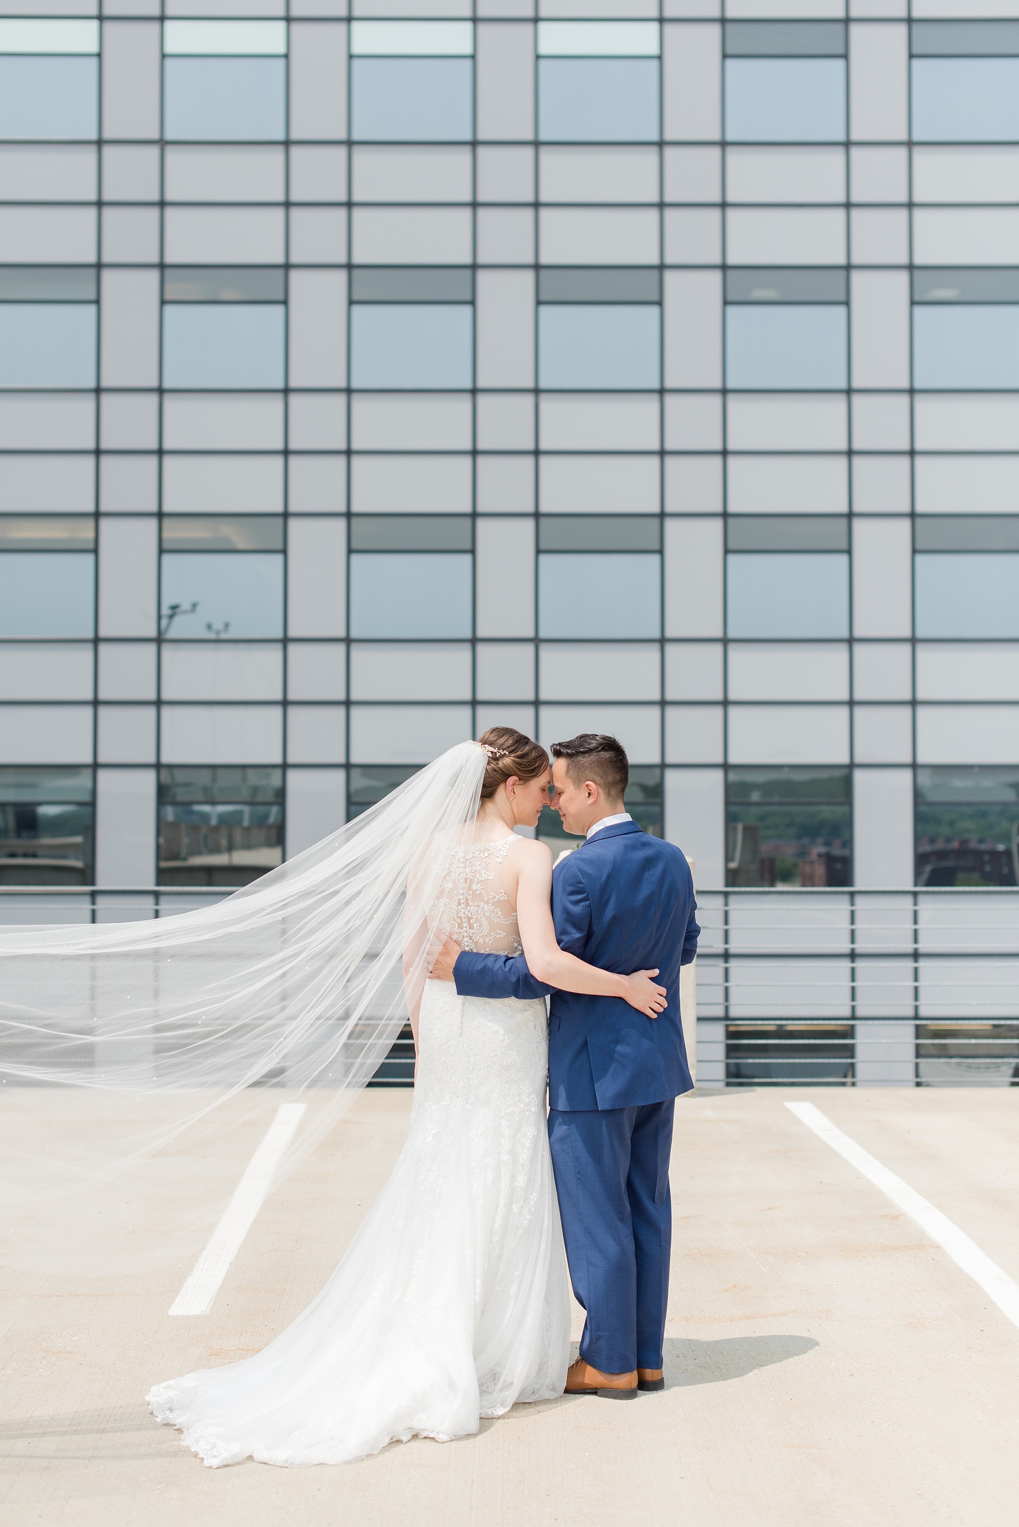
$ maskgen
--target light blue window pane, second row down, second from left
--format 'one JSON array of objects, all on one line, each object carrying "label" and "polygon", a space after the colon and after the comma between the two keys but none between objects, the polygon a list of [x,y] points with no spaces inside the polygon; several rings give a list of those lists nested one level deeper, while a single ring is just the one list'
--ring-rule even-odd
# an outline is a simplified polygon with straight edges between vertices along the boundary
[{"label": "light blue window pane, second row down, second from left", "polygon": [[268,302],[165,307],[163,386],[282,386],[285,313]]}]

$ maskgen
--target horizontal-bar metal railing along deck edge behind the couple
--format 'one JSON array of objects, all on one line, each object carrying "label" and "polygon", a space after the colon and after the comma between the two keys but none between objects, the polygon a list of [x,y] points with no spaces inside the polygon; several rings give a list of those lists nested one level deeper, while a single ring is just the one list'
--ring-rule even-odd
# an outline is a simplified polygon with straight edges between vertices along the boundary
[{"label": "horizontal-bar metal railing along deck edge behind the couple", "polygon": [[[168,916],[233,889],[0,886],[0,924]],[[697,902],[699,1086],[1019,1086],[1019,887],[726,887]],[[372,1084],[412,1080],[404,1029]]]}]

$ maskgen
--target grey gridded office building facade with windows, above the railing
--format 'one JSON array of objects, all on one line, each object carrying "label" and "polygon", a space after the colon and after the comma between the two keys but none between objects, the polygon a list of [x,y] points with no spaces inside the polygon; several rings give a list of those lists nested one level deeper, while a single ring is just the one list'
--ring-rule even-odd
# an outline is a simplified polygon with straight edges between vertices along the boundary
[{"label": "grey gridded office building facade with windows, above the railing", "polygon": [[0,880],[510,722],[705,887],[1016,884],[1019,6],[6,9]]}]

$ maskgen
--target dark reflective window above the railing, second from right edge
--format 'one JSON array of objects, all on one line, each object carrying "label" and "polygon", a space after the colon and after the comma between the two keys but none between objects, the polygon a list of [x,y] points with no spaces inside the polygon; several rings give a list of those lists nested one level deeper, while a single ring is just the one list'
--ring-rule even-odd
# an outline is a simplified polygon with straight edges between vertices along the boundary
[{"label": "dark reflective window above the railing, second from right edge", "polygon": [[726,886],[851,886],[850,771],[731,768]]}]

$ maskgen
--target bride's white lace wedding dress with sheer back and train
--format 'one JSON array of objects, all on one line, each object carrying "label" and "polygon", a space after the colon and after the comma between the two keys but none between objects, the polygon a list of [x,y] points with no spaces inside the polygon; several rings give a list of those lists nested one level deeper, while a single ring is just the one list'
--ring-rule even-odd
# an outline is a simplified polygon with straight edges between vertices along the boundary
[{"label": "bride's white lace wedding dress with sheer back and train", "polygon": [[[520,953],[502,864],[458,851],[452,936]],[[569,1303],[545,1113],[543,1000],[421,999],[407,1142],[339,1267],[264,1351],[157,1383],[157,1420],[212,1467],[343,1463],[447,1441],[561,1394]]]}]

